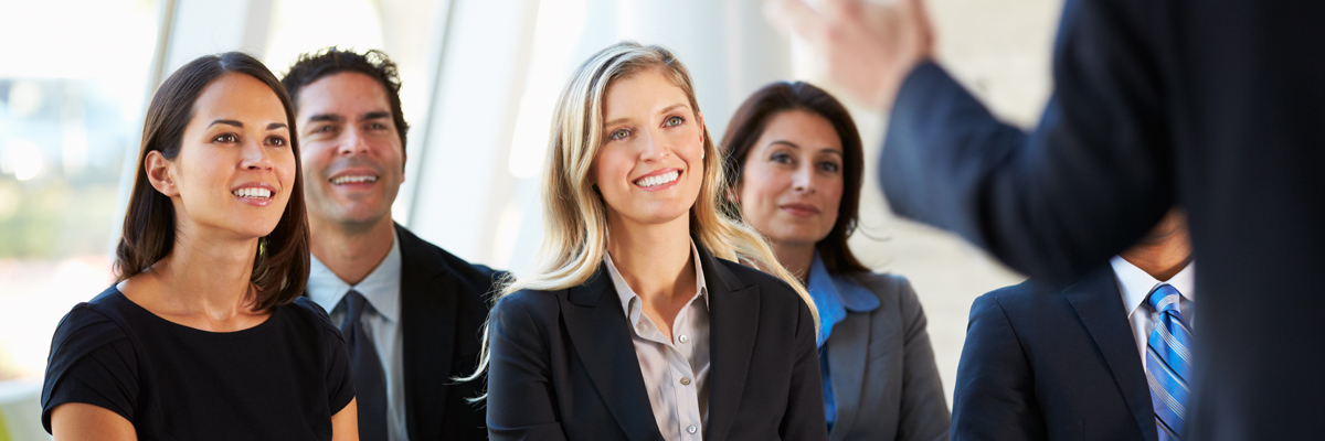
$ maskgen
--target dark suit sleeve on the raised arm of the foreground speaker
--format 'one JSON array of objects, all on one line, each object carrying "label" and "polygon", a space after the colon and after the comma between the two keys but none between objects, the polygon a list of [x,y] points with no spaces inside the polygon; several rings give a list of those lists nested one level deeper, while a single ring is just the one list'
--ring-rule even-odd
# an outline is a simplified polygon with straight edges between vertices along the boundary
[{"label": "dark suit sleeve on the raised arm of the foreground speaker", "polygon": [[1030,134],[926,62],[893,106],[880,180],[894,212],[953,230],[1014,269],[1071,281],[1174,203],[1157,50],[1162,3],[1068,0],[1055,93]]}]

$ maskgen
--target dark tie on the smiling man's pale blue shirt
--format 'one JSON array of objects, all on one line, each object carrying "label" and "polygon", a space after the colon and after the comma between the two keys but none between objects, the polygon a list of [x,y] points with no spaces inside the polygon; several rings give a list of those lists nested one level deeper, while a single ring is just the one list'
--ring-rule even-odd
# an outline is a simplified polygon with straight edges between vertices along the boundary
[{"label": "dark tie on the smiling man's pale blue shirt", "polygon": [[350,347],[350,368],[354,369],[354,391],[359,405],[359,440],[387,440],[387,376],[378,359],[378,347],[364,330],[359,317],[372,307],[359,291],[350,290],[341,299],[344,322],[341,334]]}]

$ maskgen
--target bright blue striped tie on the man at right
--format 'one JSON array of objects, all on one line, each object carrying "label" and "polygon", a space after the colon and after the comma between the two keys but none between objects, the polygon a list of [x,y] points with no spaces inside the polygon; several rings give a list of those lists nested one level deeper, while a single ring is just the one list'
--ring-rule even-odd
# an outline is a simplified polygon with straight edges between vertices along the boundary
[{"label": "bright blue striped tie on the man at right", "polygon": [[1146,299],[1159,319],[1146,343],[1146,380],[1155,409],[1159,441],[1182,440],[1187,420],[1187,397],[1191,395],[1191,326],[1182,318],[1178,289],[1163,285]]}]

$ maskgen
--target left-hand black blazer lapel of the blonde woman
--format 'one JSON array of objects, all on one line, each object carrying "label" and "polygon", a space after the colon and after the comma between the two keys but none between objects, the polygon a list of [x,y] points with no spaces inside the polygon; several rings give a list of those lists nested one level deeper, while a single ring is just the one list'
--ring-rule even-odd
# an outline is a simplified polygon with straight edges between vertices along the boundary
[{"label": "left-hand black blazer lapel of the blonde woman", "polygon": [[570,289],[562,305],[566,331],[584,362],[594,388],[632,441],[661,441],[649,392],[631,340],[631,326],[607,269],[584,285]]}]

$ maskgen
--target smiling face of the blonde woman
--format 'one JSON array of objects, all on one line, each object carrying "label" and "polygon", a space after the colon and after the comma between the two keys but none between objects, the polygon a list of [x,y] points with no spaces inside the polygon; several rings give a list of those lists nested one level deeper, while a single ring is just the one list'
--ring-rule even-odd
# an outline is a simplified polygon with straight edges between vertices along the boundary
[{"label": "smiling face of the blonde woman", "polygon": [[704,121],[657,69],[623,77],[603,99],[602,146],[591,179],[610,222],[685,219],[704,181]]}]

